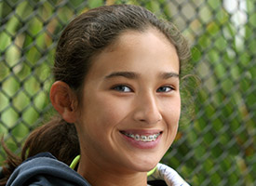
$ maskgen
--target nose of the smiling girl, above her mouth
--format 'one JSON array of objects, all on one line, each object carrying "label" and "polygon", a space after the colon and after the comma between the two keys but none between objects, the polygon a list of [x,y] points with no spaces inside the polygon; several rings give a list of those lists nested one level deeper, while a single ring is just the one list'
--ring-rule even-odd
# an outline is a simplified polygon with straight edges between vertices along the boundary
[{"label": "nose of the smiling girl, above her mouth", "polygon": [[154,95],[143,95],[135,101],[134,120],[149,125],[157,124],[162,120],[162,114]]}]

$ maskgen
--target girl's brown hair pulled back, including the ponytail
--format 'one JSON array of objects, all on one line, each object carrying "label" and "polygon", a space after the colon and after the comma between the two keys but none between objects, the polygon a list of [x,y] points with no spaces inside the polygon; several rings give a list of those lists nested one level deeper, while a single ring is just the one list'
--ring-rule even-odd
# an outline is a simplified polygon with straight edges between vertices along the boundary
[{"label": "girl's brown hair pulled back, including the ponytail", "polygon": [[[190,58],[190,48],[176,27],[157,19],[143,7],[114,5],[90,9],[68,24],[61,33],[56,49],[53,68],[55,80],[68,84],[77,93],[77,98],[81,98],[80,91],[92,58],[107,46],[114,44],[120,33],[128,30],[142,33],[149,28],[163,33],[170,44],[175,46],[182,75],[184,64]],[[5,149],[7,151],[7,148]],[[74,124],[67,124],[57,116],[30,134],[22,148],[21,158],[7,151],[7,166],[4,167],[6,179],[2,179],[0,185],[5,185],[16,166],[36,153],[52,153],[69,165],[79,151]]]}]

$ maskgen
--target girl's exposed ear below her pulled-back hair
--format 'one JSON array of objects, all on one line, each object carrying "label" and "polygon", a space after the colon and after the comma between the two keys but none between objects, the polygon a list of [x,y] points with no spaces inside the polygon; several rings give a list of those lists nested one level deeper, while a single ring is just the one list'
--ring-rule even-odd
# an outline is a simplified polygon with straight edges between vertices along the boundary
[{"label": "girl's exposed ear below her pulled-back hair", "polygon": [[76,96],[66,83],[57,81],[50,88],[50,100],[67,123],[76,121]]}]

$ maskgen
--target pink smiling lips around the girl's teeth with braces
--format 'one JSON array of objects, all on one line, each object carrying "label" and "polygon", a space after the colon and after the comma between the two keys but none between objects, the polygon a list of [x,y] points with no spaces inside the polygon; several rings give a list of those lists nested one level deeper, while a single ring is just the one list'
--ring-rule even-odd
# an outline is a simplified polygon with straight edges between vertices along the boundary
[{"label": "pink smiling lips around the girl's teeth with braces", "polygon": [[[139,149],[154,149],[160,142],[162,138],[163,131],[159,129],[155,130],[120,130],[119,133],[123,137],[123,139],[128,143],[129,146],[139,148]],[[140,136],[149,136],[160,133],[160,135],[156,138],[154,141],[141,141],[141,140],[135,140],[128,136],[126,136],[124,133],[128,134],[138,134]]]}]

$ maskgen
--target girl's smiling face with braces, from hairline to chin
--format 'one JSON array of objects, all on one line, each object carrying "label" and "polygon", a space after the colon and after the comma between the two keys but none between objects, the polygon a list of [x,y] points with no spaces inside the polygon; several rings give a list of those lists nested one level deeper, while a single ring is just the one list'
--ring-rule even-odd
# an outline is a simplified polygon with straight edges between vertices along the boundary
[{"label": "girl's smiling face with braces, from hairline to chin", "polygon": [[146,172],[167,152],[180,118],[179,60],[154,29],[123,33],[93,60],[76,121],[81,163]]}]

